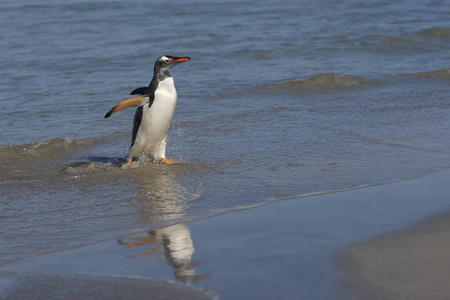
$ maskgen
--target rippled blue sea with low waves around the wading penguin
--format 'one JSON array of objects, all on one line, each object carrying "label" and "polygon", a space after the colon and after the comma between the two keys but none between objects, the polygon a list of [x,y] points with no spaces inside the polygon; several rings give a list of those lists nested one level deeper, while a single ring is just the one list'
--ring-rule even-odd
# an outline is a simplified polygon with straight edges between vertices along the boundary
[{"label": "rippled blue sea with low waves around the wading penguin", "polygon": [[[2,1],[0,265],[450,166],[448,1]],[[164,166],[121,168],[161,55]]]}]

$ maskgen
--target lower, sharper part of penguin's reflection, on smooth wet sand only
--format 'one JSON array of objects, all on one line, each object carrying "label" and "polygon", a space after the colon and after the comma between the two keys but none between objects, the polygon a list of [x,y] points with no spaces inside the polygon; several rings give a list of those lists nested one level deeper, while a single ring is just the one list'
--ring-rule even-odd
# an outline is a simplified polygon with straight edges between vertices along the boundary
[{"label": "lower, sharper part of penguin's reflection, on smooth wet sand only", "polygon": [[152,246],[141,253],[130,256],[131,258],[152,256],[159,258],[159,254],[164,251],[165,257],[174,269],[175,278],[181,282],[191,284],[207,280],[211,276],[210,273],[195,275],[195,268],[204,262],[191,263],[194,244],[191,239],[191,232],[184,224],[152,230],[149,232],[149,236],[119,239],[118,242],[128,248]]}]

